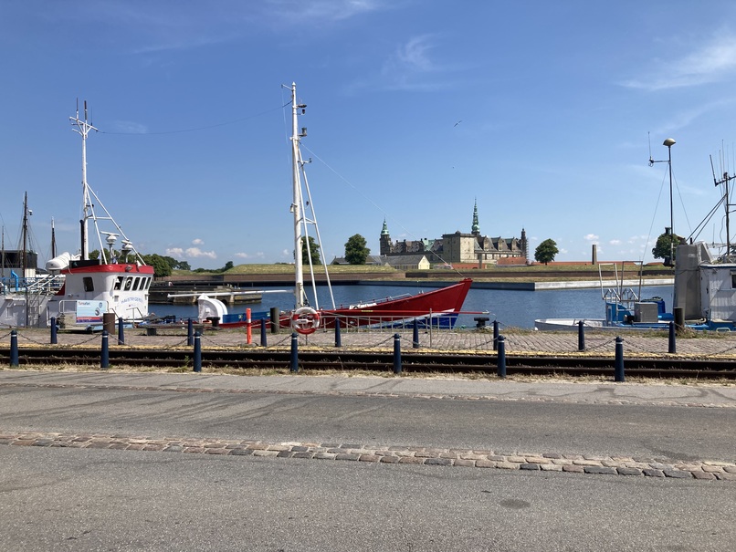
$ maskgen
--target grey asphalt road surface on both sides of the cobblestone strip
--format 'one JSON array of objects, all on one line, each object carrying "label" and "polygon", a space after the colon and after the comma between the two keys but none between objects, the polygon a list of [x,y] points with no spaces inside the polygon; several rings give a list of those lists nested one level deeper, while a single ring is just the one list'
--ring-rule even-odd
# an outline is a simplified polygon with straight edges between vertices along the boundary
[{"label": "grey asphalt road surface on both sides of the cobblestone strip", "polygon": [[[732,388],[0,371],[0,432],[733,461]],[[0,445],[0,550],[731,550],[736,482]]]}]

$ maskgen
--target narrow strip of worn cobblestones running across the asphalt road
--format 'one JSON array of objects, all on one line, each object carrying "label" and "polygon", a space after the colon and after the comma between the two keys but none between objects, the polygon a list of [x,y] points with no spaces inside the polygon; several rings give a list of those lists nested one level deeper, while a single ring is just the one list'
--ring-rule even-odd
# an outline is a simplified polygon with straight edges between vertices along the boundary
[{"label": "narrow strip of worn cobblestones running across the asphalt road", "polygon": [[120,434],[75,435],[52,432],[0,432],[0,444],[736,481],[736,463],[715,461],[663,463],[653,458],[629,456],[608,457],[558,453],[508,454],[429,447],[375,447],[360,443],[264,443],[237,439],[178,437],[153,439]]}]

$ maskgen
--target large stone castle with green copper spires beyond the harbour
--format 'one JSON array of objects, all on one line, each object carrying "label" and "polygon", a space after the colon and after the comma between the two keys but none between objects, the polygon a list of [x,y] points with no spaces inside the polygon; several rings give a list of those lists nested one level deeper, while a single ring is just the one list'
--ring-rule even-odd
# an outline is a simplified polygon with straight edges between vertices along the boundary
[{"label": "large stone castle with green copper spires beyond the harbour", "polygon": [[[529,259],[529,244],[526,231],[521,229],[520,238],[502,238],[480,235],[478,224],[478,202],[473,206],[473,224],[470,234],[463,234],[459,230],[455,234],[442,234],[437,239],[421,239],[412,241],[391,240],[388,226],[384,220],[381,230],[381,256],[392,266],[409,265],[402,263],[399,256],[425,256],[430,265],[502,265],[526,264]],[[408,261],[408,259],[406,259]]]}]

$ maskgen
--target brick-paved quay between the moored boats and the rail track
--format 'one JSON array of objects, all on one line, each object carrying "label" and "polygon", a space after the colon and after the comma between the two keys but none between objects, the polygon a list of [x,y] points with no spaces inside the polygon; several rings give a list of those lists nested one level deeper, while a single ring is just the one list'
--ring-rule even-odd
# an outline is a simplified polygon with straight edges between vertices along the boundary
[{"label": "brick-paved quay between the moored boats and the rail track", "polygon": [[[412,347],[412,330],[360,330],[341,332],[341,346],[344,349],[388,349],[394,347],[394,334],[398,333],[402,348]],[[506,340],[507,354],[570,354],[579,353],[577,331],[540,332],[519,328],[501,328],[501,335]],[[625,354],[667,355],[668,334],[664,332],[627,331],[617,334],[610,330],[586,330],[584,354],[595,356],[614,356],[615,338],[624,339]],[[10,332],[0,332],[0,347],[10,342]],[[59,332],[58,345],[100,346],[100,334]],[[247,344],[247,333],[244,328],[207,330],[202,335],[202,347],[259,347],[261,345],[260,328],[254,328],[251,344]],[[289,348],[291,334],[282,331],[278,334],[267,332],[267,346],[272,348]],[[126,347],[173,348],[186,347],[186,329],[159,330],[158,335],[149,336],[145,330],[127,328],[124,330]],[[50,332],[45,329],[21,328],[18,330],[18,345],[33,343],[47,345]],[[335,333],[333,329],[321,329],[310,336],[299,336],[300,348],[305,346],[334,349]],[[110,336],[110,346],[118,345],[118,334]],[[488,352],[493,350],[493,332],[484,330],[421,330],[419,332],[420,349],[437,351]],[[736,359],[736,333],[691,333],[688,337],[678,337],[677,350],[679,357]]]}]

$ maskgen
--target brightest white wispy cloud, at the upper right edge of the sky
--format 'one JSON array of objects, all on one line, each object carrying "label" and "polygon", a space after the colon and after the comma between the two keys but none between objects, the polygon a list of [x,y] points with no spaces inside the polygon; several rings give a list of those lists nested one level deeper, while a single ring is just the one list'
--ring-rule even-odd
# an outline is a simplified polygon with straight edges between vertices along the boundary
[{"label": "brightest white wispy cloud, at the upper right edge of the sky", "polygon": [[708,44],[684,57],[662,61],[651,77],[631,79],[621,83],[632,89],[650,91],[694,87],[722,82],[736,75],[736,36],[717,33]]}]

